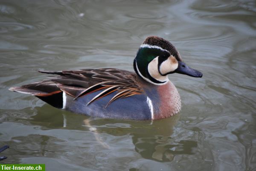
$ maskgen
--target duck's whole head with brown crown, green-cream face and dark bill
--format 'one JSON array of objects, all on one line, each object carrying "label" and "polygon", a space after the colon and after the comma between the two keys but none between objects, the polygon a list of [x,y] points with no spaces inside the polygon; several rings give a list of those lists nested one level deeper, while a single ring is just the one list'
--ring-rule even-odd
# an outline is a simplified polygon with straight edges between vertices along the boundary
[{"label": "duck's whole head with brown crown, green-cream face and dark bill", "polygon": [[168,74],[180,73],[192,77],[202,77],[202,73],[188,67],[180,53],[169,41],[157,36],[149,36],[140,46],[134,59],[134,70],[145,81],[152,84],[166,84]]}]

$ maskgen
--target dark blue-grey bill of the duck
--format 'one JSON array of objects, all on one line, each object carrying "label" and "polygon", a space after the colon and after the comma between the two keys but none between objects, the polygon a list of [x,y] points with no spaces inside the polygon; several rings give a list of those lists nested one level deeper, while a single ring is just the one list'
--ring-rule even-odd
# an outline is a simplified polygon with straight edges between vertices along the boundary
[{"label": "dark blue-grey bill of the duck", "polygon": [[178,68],[174,72],[189,75],[191,77],[201,78],[203,76],[202,72],[199,72],[198,70],[190,68],[184,62],[181,62],[181,61],[178,61]]}]

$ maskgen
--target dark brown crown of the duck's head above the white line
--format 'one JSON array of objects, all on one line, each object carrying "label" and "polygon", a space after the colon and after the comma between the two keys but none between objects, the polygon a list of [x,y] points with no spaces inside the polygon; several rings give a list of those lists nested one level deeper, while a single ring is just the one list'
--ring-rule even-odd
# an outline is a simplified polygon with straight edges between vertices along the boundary
[{"label": "dark brown crown of the duck's head above the white line", "polygon": [[172,45],[169,41],[166,41],[163,38],[157,37],[157,36],[148,36],[143,44],[153,45],[153,46],[159,46],[162,49],[168,50],[178,61],[182,61],[180,53],[175,48],[175,46]]}]

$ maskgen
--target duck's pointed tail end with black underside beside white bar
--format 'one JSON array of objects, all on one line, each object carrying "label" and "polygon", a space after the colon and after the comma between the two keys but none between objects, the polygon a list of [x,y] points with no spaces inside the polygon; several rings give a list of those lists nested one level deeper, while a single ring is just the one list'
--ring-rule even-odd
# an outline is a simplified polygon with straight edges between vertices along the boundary
[{"label": "duck's pointed tail end with black underside beside white bar", "polygon": [[11,87],[9,90],[36,96],[53,107],[63,107],[63,92],[52,81],[39,81],[20,87]]}]

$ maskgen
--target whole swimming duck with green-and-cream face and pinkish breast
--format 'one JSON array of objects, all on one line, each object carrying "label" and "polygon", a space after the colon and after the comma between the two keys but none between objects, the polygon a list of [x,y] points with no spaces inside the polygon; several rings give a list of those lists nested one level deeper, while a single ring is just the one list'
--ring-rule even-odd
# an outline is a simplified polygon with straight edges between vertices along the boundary
[{"label": "whole swimming duck with green-and-cream face and pinkish breast", "polygon": [[168,75],[201,78],[188,67],[175,46],[149,36],[134,58],[135,72],[115,69],[82,69],[38,72],[54,75],[9,90],[36,96],[53,107],[106,119],[163,119],[180,112],[181,100]]}]

